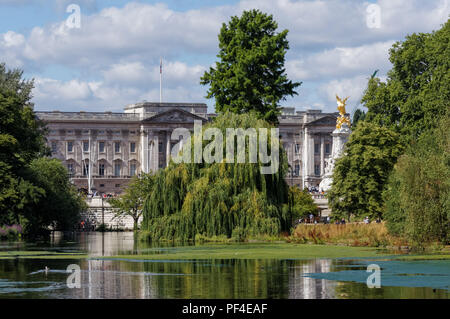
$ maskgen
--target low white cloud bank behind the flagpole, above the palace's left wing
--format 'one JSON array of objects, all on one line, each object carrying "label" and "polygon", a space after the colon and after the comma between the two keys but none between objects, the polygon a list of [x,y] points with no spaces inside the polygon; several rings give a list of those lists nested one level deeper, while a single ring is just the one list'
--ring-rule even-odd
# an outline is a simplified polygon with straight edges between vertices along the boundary
[{"label": "low white cloud bank behind the flagpole, above the palace's left wing", "polygon": [[[202,66],[169,61],[163,68],[164,101],[203,101],[204,88],[196,85],[204,70]],[[146,67],[140,62],[114,64],[102,74],[99,81],[36,78],[36,109],[121,111],[129,103],[159,101],[159,66]]]}]

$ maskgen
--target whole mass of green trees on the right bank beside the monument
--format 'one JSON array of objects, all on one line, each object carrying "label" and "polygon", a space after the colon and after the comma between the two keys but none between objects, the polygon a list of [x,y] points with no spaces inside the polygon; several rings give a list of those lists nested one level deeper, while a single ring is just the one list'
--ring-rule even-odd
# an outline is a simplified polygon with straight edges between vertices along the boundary
[{"label": "whole mass of green trees on the right bank beside the monument", "polygon": [[335,217],[381,217],[418,248],[450,243],[449,41],[450,20],[409,35],[390,50],[387,81],[369,79],[367,113],[333,173]]}]

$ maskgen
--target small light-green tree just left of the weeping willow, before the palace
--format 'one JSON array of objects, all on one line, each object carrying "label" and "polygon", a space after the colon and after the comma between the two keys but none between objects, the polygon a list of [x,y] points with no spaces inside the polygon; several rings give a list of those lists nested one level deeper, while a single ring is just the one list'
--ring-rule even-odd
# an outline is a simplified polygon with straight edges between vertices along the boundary
[{"label": "small light-green tree just left of the weeping willow, before the palace", "polygon": [[115,208],[116,217],[131,216],[135,231],[139,228],[139,218],[147,196],[151,193],[154,177],[150,174],[135,176],[128,184],[125,193],[118,198],[111,198],[108,202]]}]

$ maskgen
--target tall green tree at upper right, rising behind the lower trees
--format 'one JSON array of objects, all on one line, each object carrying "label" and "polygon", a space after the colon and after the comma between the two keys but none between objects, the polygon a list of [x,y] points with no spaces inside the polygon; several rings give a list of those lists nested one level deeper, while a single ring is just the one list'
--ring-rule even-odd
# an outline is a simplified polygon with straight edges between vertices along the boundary
[{"label": "tall green tree at upper right, rising behind the lower trees", "polygon": [[450,20],[438,31],[412,34],[390,50],[387,82],[369,80],[366,121],[392,128],[406,143],[436,126],[450,107]]}]

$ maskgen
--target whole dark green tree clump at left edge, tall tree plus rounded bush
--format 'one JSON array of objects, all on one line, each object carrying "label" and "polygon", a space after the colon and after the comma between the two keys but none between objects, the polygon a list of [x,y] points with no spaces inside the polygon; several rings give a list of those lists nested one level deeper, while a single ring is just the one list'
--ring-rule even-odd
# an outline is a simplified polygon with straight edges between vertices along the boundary
[{"label": "whole dark green tree clump at left edge, tall tree plus rounded bush", "polygon": [[37,234],[70,228],[82,202],[67,171],[49,155],[46,129],[33,113],[33,81],[0,64],[0,225],[20,224]]}]

